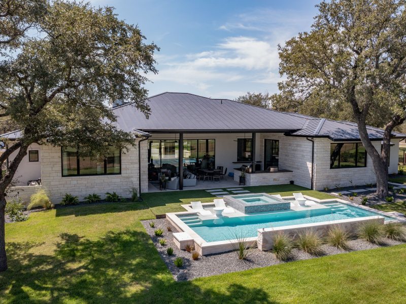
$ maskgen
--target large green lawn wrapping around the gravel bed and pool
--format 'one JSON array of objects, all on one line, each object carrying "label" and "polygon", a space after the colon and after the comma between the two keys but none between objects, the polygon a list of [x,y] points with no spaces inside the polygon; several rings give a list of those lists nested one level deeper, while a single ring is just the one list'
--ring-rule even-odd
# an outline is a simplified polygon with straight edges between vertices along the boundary
[{"label": "large green lawn wrapping around the gravel bed and pool", "polygon": [[0,302],[404,302],[406,245],[176,282],[140,220],[179,210],[188,196],[210,198],[200,191],[146,194],[145,203],[67,207],[6,224],[9,270],[0,273]]}]

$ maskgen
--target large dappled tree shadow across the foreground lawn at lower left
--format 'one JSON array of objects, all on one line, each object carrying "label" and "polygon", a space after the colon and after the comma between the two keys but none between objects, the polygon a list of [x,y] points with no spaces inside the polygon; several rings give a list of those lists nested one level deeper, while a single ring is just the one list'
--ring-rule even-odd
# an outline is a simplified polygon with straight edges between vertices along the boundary
[{"label": "large dappled tree shadow across the foreground lawn at lower left", "polygon": [[[38,243],[8,243],[9,270],[0,297],[9,302],[274,303],[260,288],[239,284],[219,292],[193,281],[176,282],[146,233],[108,232],[90,240],[61,234],[54,255]],[[221,281],[219,280],[221,287]]]}]

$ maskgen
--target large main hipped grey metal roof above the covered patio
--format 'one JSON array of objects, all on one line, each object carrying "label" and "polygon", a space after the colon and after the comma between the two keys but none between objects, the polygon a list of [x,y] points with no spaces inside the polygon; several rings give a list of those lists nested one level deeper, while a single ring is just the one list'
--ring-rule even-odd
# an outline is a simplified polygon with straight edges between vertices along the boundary
[{"label": "large main hipped grey metal roof above the covered patio", "polygon": [[118,126],[147,132],[287,132],[299,130],[306,119],[228,99],[189,93],[162,93],[149,97],[151,115],[126,104],[113,108]]}]

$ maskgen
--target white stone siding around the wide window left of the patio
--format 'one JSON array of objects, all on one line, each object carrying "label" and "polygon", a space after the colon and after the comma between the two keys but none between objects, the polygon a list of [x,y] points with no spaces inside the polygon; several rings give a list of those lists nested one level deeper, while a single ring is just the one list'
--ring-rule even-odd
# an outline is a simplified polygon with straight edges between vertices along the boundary
[{"label": "white stone siding around the wide window left of the patio", "polygon": [[[148,192],[148,150],[147,141],[141,142],[141,191]],[[66,193],[83,200],[88,194],[105,198],[106,192],[115,191],[125,198],[131,196],[131,188],[139,188],[138,140],[137,147],[130,147],[121,153],[121,174],[66,176],[62,177],[61,149],[44,145],[41,154],[42,185],[49,192],[52,203],[59,204]]]}]

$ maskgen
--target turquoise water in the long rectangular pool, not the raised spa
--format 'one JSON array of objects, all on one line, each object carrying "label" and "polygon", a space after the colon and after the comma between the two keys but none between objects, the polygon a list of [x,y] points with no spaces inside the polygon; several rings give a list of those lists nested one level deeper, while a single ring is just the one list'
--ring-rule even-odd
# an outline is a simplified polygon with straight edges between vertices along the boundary
[{"label": "turquoise water in the long rectangular pool, not the raised spa", "polygon": [[267,213],[251,214],[239,217],[222,217],[217,219],[200,220],[191,216],[179,216],[195,233],[206,242],[216,242],[235,239],[239,237],[249,238],[258,235],[261,228],[281,227],[297,224],[317,223],[332,220],[351,219],[367,216],[383,216],[385,221],[393,220],[390,216],[381,215],[377,212],[364,210],[358,207],[328,202],[322,204],[327,208],[293,211],[275,211]]}]

